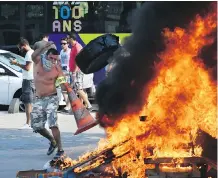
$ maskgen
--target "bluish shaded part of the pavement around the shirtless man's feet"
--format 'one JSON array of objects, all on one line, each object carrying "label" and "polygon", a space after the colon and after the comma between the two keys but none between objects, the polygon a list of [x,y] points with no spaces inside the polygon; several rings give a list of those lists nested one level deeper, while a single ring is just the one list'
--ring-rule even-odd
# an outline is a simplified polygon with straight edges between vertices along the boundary
[{"label": "bluish shaded part of the pavement around the shirtless man's feet", "polygon": [[[55,154],[46,155],[48,140],[32,130],[0,129],[0,133],[0,177],[14,178],[20,170],[42,169]],[[73,133],[64,132],[61,136],[66,154],[77,159],[83,153],[97,148],[97,143],[104,134],[74,136]]]}]

